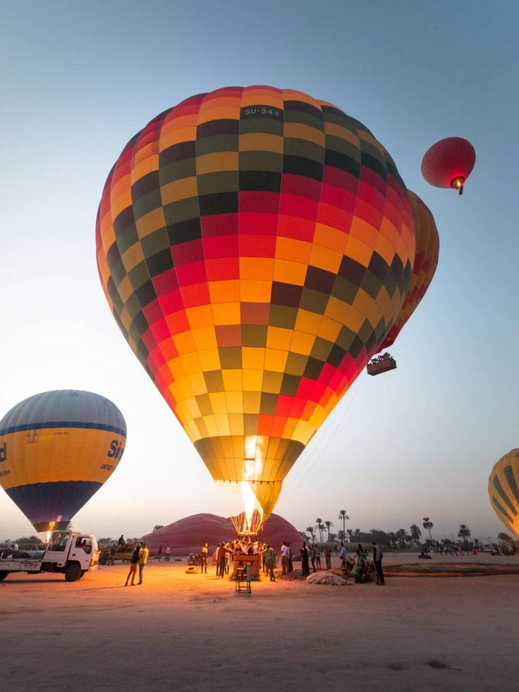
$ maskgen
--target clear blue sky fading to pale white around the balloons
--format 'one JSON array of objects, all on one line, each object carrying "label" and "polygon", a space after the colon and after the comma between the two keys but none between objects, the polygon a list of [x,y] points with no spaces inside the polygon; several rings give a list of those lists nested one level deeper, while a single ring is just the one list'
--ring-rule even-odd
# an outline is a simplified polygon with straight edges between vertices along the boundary
[{"label": "clear blue sky fading to pale white around the balloons", "polygon": [[[365,123],[432,210],[439,268],[393,355],[363,374],[288,475],[276,508],[388,530],[502,530],[491,466],[519,446],[519,6],[372,0],[3,4],[0,23],[0,416],[47,389],[90,389],[128,445],[76,528],[138,535],[227,508],[118,331],[94,257],[109,169],[152,117],[227,85],[293,87]],[[427,186],[436,140],[473,142],[465,194]],[[0,538],[30,524],[0,493]]]}]

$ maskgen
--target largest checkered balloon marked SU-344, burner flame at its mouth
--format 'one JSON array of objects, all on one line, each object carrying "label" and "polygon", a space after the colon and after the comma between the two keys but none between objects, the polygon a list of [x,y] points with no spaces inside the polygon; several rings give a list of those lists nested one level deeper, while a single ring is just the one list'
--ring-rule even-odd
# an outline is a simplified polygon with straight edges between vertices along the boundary
[{"label": "largest checkered balloon marked SU-344, burner flame at its mouth", "polygon": [[197,95],[123,149],[96,244],[128,344],[212,477],[245,482],[267,516],[408,293],[415,226],[393,159],[301,92]]}]

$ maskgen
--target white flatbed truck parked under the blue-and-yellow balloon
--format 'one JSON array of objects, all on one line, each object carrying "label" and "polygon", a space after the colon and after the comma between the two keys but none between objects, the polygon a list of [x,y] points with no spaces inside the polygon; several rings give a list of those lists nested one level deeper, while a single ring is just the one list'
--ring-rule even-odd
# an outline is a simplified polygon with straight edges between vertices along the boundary
[{"label": "white flatbed truck parked under the blue-and-yellow balloon", "polygon": [[76,581],[89,569],[97,569],[100,552],[89,533],[56,532],[42,550],[0,549],[0,581],[13,572],[59,572],[66,581]]}]

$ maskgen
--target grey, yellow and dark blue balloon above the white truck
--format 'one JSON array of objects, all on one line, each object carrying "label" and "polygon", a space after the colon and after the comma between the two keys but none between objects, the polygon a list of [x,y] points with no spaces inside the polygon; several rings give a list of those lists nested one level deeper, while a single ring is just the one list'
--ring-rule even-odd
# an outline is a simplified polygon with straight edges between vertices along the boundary
[{"label": "grey, yellow and dark blue balloon above the white truck", "polygon": [[116,469],[117,406],[91,391],[44,391],[0,421],[0,484],[37,531],[61,530]]}]

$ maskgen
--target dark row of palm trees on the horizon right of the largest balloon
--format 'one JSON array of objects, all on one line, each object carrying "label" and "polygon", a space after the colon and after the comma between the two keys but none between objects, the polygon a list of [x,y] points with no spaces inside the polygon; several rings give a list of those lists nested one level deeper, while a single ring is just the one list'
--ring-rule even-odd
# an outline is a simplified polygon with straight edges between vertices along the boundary
[{"label": "dark row of palm trees on the horizon right of the largest balloon", "polygon": [[[323,521],[321,517],[317,517],[315,524],[313,526],[307,526],[304,531],[301,531],[301,535],[305,540],[310,540],[315,543],[317,540],[317,535],[319,535],[319,543],[323,543],[323,535],[326,531],[326,541],[343,541],[343,542],[363,542],[366,540],[377,540],[385,545],[390,545],[394,547],[405,548],[408,545],[411,547],[413,544],[421,545],[422,543],[422,529],[417,524],[411,524],[409,531],[405,528],[399,528],[397,531],[391,531],[386,533],[381,529],[371,529],[369,532],[362,532],[360,528],[348,528],[346,529],[346,521],[349,521],[350,517],[346,509],[339,510],[338,520],[342,523],[342,529],[338,533],[331,533],[331,527],[334,526],[333,521]],[[429,538],[426,541],[429,545],[434,545],[435,541],[432,538],[431,529],[434,528],[434,523],[431,518],[425,516],[422,519],[422,527],[425,531],[429,533]],[[470,528],[466,524],[460,524],[458,529],[458,538],[460,538],[465,545],[468,545],[468,540],[470,538]]]}]

